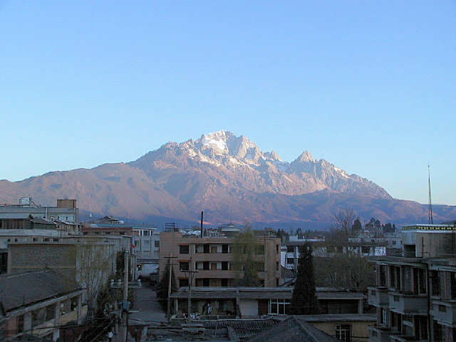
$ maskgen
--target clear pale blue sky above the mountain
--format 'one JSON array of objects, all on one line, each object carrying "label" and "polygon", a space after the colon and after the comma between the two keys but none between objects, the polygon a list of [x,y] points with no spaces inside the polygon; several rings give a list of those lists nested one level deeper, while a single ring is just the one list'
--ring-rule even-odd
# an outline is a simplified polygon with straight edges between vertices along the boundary
[{"label": "clear pale blue sky above the mountain", "polygon": [[0,179],[231,130],[456,204],[456,1],[0,0],[0,41]]}]

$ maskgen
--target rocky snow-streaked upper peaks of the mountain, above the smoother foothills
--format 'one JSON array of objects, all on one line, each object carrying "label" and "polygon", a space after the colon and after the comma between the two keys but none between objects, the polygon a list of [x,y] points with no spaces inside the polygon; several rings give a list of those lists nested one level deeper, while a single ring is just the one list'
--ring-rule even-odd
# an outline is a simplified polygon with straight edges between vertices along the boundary
[{"label": "rocky snow-streaked upper peaks of the mountain, above the smoother foothills", "polygon": [[237,137],[223,130],[202,135],[197,140],[168,143],[131,165],[156,175],[163,155],[167,155],[167,160],[175,165],[185,165],[186,170],[217,172],[227,186],[230,183],[242,185],[256,192],[304,195],[333,190],[390,198],[388,192],[375,183],[357,175],[348,175],[326,160],[314,160],[308,151],[291,163],[284,162],[275,151],[262,152],[243,135]]}]

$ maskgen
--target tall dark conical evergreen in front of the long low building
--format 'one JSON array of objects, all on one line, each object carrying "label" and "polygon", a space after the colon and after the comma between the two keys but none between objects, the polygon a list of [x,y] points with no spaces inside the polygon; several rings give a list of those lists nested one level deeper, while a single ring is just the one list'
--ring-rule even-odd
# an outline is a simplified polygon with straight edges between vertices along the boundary
[{"label": "tall dark conical evergreen in front of the long low building", "polygon": [[304,244],[299,252],[301,255],[298,261],[298,275],[291,296],[290,314],[318,314],[312,247],[310,244]]}]

